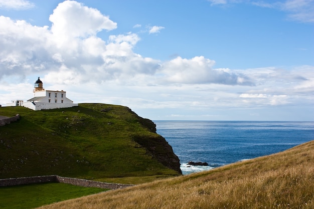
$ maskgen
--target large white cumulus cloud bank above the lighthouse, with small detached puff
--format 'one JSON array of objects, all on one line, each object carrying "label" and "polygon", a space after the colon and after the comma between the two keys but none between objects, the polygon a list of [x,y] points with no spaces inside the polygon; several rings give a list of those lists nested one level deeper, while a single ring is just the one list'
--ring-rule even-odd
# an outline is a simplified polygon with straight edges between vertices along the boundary
[{"label": "large white cumulus cloud bank above the lighthouse, with small detached puff", "polygon": [[[48,26],[0,17],[0,79],[4,76],[45,75],[57,84],[117,83],[137,85],[202,84],[253,85],[244,74],[214,69],[214,61],[202,56],[177,57],[167,62],[133,52],[140,40],[134,33],[97,37],[117,24],[98,10],[75,1],[60,3]],[[154,26],[150,33],[164,27]]]}]

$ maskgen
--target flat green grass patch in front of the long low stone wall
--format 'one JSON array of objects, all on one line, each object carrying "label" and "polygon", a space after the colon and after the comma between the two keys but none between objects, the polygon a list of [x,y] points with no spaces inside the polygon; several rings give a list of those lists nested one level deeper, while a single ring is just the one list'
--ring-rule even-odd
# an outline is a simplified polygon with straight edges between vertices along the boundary
[{"label": "flat green grass patch in front of the long low stone wall", "polygon": [[1,209],[27,209],[73,199],[108,189],[81,187],[65,183],[38,183],[0,187]]}]

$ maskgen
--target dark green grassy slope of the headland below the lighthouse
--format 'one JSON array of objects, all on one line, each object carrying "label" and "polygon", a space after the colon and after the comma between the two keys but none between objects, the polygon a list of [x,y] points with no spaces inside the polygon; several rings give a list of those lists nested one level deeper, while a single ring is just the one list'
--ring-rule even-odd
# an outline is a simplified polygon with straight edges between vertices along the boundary
[{"label": "dark green grassy slope of the headland below the lighthouse", "polygon": [[178,175],[134,139],[160,140],[129,108],[105,104],[33,111],[0,108],[21,120],[0,127],[0,178],[56,174],[97,179]]}]

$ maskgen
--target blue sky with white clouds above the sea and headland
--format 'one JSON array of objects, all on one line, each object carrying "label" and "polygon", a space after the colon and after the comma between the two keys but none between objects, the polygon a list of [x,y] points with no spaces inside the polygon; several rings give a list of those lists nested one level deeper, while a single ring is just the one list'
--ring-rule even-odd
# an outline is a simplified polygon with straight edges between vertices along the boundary
[{"label": "blue sky with white clouds above the sea and headland", "polygon": [[314,0],[0,0],[0,104],[38,77],[151,120],[313,121]]}]

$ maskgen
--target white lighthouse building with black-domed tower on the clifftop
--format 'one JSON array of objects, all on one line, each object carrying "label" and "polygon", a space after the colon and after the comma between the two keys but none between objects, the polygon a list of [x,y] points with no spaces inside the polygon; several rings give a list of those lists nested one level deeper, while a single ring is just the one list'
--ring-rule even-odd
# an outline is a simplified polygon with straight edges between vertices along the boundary
[{"label": "white lighthouse building with black-domed tower on the clifftop", "polygon": [[43,82],[39,79],[35,82],[34,97],[24,102],[23,100],[12,101],[9,106],[23,106],[32,110],[57,109],[78,106],[66,97],[66,92],[50,91],[43,88]]}]

